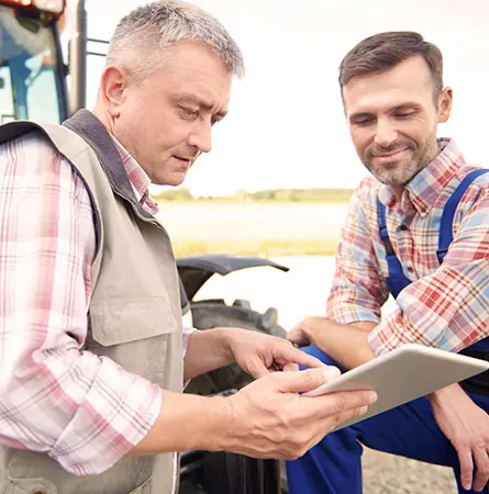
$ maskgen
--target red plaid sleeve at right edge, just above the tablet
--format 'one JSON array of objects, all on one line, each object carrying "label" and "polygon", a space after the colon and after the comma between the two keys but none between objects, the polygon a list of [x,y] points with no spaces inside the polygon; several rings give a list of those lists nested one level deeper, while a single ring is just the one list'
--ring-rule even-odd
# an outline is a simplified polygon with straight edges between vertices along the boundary
[{"label": "red plaid sleeve at right edge, just above the tablet", "polygon": [[405,288],[399,310],[369,335],[376,355],[407,343],[459,351],[488,336],[489,190],[477,193],[463,199],[474,205],[456,226],[440,269]]}]

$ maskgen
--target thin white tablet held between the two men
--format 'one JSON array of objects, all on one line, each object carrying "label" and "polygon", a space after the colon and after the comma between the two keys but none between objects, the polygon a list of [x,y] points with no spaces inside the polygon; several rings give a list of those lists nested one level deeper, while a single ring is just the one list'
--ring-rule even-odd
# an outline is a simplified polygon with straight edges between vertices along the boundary
[{"label": "thin white tablet held between the two men", "polygon": [[375,390],[378,400],[368,407],[368,412],[341,424],[335,428],[338,430],[488,369],[489,362],[485,360],[409,344],[358,366],[303,395]]}]

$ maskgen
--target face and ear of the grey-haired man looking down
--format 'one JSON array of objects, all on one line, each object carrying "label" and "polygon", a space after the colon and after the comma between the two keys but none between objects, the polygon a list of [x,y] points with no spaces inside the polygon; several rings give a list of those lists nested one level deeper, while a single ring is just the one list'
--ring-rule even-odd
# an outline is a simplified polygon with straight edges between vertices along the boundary
[{"label": "face and ear of the grey-haired man looking down", "polygon": [[211,150],[231,81],[210,47],[184,41],[166,48],[164,63],[142,81],[107,67],[96,114],[153,183],[179,186],[197,157]]}]

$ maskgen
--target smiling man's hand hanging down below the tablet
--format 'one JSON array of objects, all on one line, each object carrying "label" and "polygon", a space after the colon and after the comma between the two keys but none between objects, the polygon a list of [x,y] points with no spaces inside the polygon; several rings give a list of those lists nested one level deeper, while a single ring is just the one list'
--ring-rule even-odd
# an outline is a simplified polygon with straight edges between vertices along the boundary
[{"label": "smiling man's hand hanging down below the tablet", "polygon": [[457,450],[462,485],[470,490],[475,467],[474,490],[482,491],[489,480],[489,415],[458,384],[436,391],[429,400],[438,427]]}]

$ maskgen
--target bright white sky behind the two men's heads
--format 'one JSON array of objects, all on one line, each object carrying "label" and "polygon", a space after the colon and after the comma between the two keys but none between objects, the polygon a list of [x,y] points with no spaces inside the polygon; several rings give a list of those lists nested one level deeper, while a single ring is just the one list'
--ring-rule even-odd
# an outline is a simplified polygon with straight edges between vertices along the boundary
[{"label": "bright white sky behind the two men's heads", "polygon": [[[138,0],[86,0],[88,33],[109,38]],[[468,160],[488,166],[489,1],[193,0],[240,45],[246,76],[230,113],[213,130],[185,187],[193,195],[278,188],[354,188],[366,175],[343,115],[337,67],[364,37],[418,31],[444,54],[454,108],[440,136],[455,137]],[[88,108],[102,59],[88,61]],[[144,115],[142,115],[144,117]]]}]

